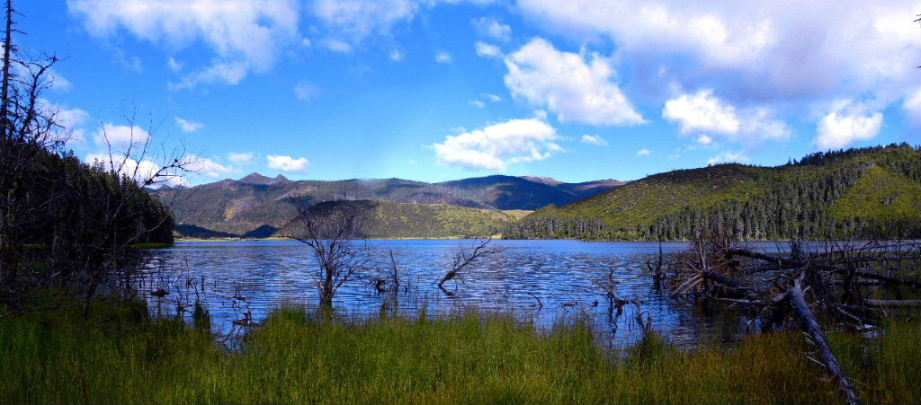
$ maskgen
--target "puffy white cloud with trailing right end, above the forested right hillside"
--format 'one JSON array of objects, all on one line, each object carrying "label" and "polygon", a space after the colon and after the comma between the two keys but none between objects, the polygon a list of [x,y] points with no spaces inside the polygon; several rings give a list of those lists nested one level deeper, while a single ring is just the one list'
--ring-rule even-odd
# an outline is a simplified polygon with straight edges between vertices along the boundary
[{"label": "puffy white cloud with trailing right end, above the forested right hillside", "polygon": [[791,133],[790,128],[774,119],[766,108],[737,111],[734,106],[714,96],[710,89],[682,94],[666,101],[662,118],[679,124],[683,134],[700,134],[697,140],[703,145],[712,143],[713,138],[701,132],[748,142],[783,140],[789,138]]}]

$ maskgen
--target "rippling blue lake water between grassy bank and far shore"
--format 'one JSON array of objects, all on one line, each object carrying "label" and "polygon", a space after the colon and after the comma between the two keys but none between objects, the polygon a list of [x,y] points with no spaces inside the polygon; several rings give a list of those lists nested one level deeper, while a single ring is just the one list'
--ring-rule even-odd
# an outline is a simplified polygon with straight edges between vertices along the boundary
[{"label": "rippling blue lake water between grassy bank and far shore", "polygon": [[[651,317],[653,327],[678,344],[701,338],[731,338],[738,321],[705,315],[693,305],[676,300],[653,286],[645,261],[658,243],[581,242],[571,240],[494,240],[496,253],[465,270],[457,283],[437,287],[451,268],[459,246],[475,241],[375,240],[367,242],[373,272],[390,268],[389,251],[402,273],[400,292],[380,294],[369,277],[345,284],[334,300],[338,312],[356,317],[378,316],[382,307],[415,316],[443,316],[466,309],[511,313],[539,326],[589,316],[604,338],[616,346],[630,345],[641,335],[637,315]],[[685,243],[665,243],[663,252],[684,249]],[[754,243],[773,251],[782,245]],[[221,335],[239,328],[234,321],[260,322],[282,305],[316,306],[317,267],[309,249],[295,241],[180,242],[174,248],[151,251],[138,284],[151,308],[175,314],[177,306],[191,312],[196,299],[211,311],[213,329]],[[595,282],[614,272],[621,298],[637,300],[619,316],[609,312],[605,293]],[[149,293],[169,291],[163,297]]]}]

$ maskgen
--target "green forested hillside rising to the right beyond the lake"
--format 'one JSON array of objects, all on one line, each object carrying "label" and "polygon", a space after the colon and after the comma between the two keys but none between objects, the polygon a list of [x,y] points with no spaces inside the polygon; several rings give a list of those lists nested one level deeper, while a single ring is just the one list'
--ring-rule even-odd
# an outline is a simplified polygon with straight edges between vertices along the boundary
[{"label": "green forested hillside rising to the right beyond the lake", "polygon": [[540,209],[508,238],[688,239],[713,221],[741,238],[921,236],[921,148],[820,152],[778,167],[722,164],[653,175]]}]

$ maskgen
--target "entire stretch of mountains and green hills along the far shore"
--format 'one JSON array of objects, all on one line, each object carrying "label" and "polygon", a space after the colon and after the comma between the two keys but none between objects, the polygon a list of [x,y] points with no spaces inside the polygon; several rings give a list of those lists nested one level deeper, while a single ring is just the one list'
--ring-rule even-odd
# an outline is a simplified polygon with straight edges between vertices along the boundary
[{"label": "entire stretch of mountains and green hills along the far shore", "polygon": [[180,233],[198,237],[284,235],[294,203],[361,208],[373,214],[366,229],[376,237],[680,240],[716,222],[750,240],[921,238],[921,148],[819,152],[776,167],[721,164],[630,183],[291,181],[253,173],[155,195],[172,207]]}]

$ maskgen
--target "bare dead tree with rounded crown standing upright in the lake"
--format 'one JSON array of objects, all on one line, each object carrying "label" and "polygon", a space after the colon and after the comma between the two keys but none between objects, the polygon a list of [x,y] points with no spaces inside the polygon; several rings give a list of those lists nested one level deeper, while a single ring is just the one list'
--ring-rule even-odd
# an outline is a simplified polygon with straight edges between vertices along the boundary
[{"label": "bare dead tree with rounded crown standing upright in the lake", "polygon": [[294,231],[288,236],[310,248],[318,267],[320,304],[332,306],[339,287],[368,268],[367,246],[356,243],[362,237],[364,216],[338,202],[295,208]]}]

